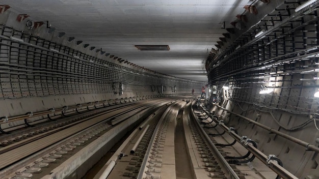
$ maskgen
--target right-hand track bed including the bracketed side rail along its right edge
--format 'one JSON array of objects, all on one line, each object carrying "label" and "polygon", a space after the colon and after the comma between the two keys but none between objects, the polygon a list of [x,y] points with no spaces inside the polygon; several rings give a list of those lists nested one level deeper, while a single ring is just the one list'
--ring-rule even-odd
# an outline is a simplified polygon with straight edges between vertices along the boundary
[{"label": "right-hand track bed including the bracketed side rail along its right edge", "polygon": [[[251,153],[245,155],[247,146],[223,135],[226,132],[216,128],[223,122],[214,122],[216,116],[194,104],[175,102],[162,115],[154,115],[145,122],[147,128],[136,129],[129,136],[94,179],[280,178],[269,167],[278,165],[274,158],[269,158],[267,166],[254,161]],[[230,132],[236,133],[233,128]],[[250,139],[244,140],[244,145],[257,147]],[[241,155],[244,157],[230,157]]]}]

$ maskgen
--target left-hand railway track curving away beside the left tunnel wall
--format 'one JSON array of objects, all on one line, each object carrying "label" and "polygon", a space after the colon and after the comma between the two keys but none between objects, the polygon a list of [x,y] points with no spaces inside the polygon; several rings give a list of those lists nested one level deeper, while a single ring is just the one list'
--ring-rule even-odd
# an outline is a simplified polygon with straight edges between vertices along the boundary
[{"label": "left-hand railway track curving away beside the left tunnel wall", "polygon": [[[43,125],[32,132],[19,131],[18,136],[12,133],[11,138],[3,137],[7,139],[1,141],[0,176],[1,178],[45,178],[61,163],[68,160],[70,163],[76,161],[71,158],[98,138],[104,136],[104,143],[113,141],[119,133],[125,133],[125,129],[134,126],[135,122],[140,121],[144,115],[175,100],[158,99],[154,100],[155,103],[144,101],[119,109],[91,111],[89,114],[83,113],[70,119],[65,118],[60,123]],[[92,155],[86,156],[90,158]],[[85,160],[78,165],[83,163]],[[72,172],[72,169],[69,172]],[[69,174],[63,173],[65,176]]]}]

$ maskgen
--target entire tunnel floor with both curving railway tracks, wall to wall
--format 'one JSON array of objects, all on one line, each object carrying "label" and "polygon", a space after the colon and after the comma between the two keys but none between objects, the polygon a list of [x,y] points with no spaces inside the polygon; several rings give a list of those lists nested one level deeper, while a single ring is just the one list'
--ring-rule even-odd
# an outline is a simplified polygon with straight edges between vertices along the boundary
[{"label": "entire tunnel floor with both curving railway tracks, wall to wall", "polygon": [[[260,151],[256,154],[257,143],[238,136],[234,128],[194,99],[157,99],[90,112],[37,129],[33,135],[19,132],[22,137],[12,135],[3,140],[0,176],[297,178],[274,156],[267,161],[254,160],[264,156]],[[130,130],[114,155],[103,159],[105,165],[94,166]],[[91,167],[98,169],[86,176]]]}]

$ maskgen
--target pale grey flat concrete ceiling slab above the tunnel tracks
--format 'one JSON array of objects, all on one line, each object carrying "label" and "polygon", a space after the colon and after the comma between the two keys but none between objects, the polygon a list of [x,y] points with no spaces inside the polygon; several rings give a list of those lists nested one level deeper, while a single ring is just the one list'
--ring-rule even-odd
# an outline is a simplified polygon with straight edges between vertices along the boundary
[{"label": "pale grey flat concrete ceiling slab above the tunnel tracks", "polygon": [[[0,0],[58,32],[161,73],[207,81],[205,60],[249,0]],[[169,45],[140,51],[135,45]]]}]

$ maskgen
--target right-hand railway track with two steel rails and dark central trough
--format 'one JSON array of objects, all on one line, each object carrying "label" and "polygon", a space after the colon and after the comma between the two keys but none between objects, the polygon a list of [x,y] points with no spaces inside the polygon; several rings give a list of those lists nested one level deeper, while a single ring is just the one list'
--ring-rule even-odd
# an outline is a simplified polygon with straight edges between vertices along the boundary
[{"label": "right-hand railway track with two steel rails and dark central trough", "polygon": [[[243,178],[237,170],[235,172],[227,161],[220,154],[219,150],[205,140],[196,125],[196,120],[191,116],[191,103],[176,102],[172,104],[161,117],[153,118],[146,131],[139,131],[131,136],[130,142],[120,147],[109,160],[107,165],[115,165],[111,173],[97,174],[95,178]],[[180,115],[178,115],[180,114]],[[157,121],[156,127],[154,122]],[[182,126],[184,134],[175,138],[175,127],[177,121]],[[180,132],[180,131],[178,131]],[[141,140],[138,140],[140,138]],[[186,143],[180,144],[179,140],[184,139]],[[175,145],[178,144],[178,145]],[[132,145],[137,145],[138,152],[130,152]],[[184,146],[183,146],[184,145]],[[196,146],[196,151],[193,146]],[[184,148],[184,151],[176,153],[176,148]],[[183,160],[183,166],[176,160],[181,153],[187,153],[188,159]],[[197,153],[204,162],[201,166],[196,157]],[[118,155],[124,154],[119,158]],[[182,157],[179,158],[182,160]],[[178,165],[177,165],[178,164]],[[189,176],[183,176],[185,168],[192,170]],[[111,171],[105,168],[104,171]],[[203,172],[204,171],[204,172]],[[240,175],[240,176],[238,176]]]}]

